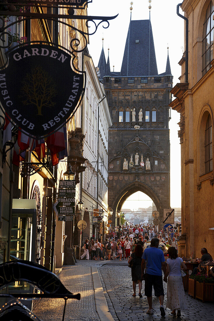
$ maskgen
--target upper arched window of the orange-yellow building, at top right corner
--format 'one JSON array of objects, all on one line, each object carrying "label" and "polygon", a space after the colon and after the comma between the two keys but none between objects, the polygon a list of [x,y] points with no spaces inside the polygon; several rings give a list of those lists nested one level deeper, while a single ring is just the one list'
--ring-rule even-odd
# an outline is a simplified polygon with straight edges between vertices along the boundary
[{"label": "upper arched window of the orange-yellow building, at top right corner", "polygon": [[214,8],[210,1],[204,20],[202,40],[202,76],[210,69],[210,62],[213,59],[213,36],[214,36]]}]

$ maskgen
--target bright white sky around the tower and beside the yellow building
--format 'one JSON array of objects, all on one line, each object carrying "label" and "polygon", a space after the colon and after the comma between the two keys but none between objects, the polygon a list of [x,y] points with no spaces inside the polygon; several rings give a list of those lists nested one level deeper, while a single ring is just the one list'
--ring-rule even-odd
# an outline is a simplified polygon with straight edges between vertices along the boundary
[{"label": "bright white sky around the tower and beside the yellow building", "polygon": [[[110,21],[108,29],[103,29],[102,25],[93,36],[90,36],[89,53],[93,58],[94,65],[98,65],[102,50],[102,38],[104,38],[104,51],[106,60],[108,57],[108,48],[111,71],[113,65],[115,71],[120,71],[124,47],[126,43],[127,32],[130,21],[130,2],[129,0],[93,0],[88,4],[88,15],[98,16],[119,16]],[[174,76],[174,85],[179,82],[181,67],[178,65],[183,55],[183,19],[176,14],[176,6],[179,1],[170,0],[152,0],[151,2],[151,24],[156,50],[156,60],[158,73],[165,72],[167,59],[167,44],[169,46],[169,58],[172,74]],[[134,0],[132,10],[132,20],[149,19],[149,3],[147,0]],[[180,9],[181,10],[181,9]],[[106,23],[104,24],[106,26]],[[89,28],[92,29],[93,27]],[[181,155],[178,139],[180,114],[172,111],[170,121],[170,142],[171,142],[171,206],[181,206]],[[133,197],[132,197],[133,196]],[[136,199],[135,195],[132,195]],[[134,201],[133,201],[134,202]],[[142,201],[143,202],[143,201]],[[140,203],[140,202],[139,202]],[[140,207],[147,207],[149,202],[140,204]],[[136,206],[133,204],[133,207]],[[138,206],[137,206],[138,207]]]}]

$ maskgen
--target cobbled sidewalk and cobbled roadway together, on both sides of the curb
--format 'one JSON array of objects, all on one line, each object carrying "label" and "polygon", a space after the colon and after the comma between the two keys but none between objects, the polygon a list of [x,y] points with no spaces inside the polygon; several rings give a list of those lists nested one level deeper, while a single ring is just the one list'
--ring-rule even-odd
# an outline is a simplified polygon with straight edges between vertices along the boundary
[{"label": "cobbled sidewalk and cobbled roadway together, on both sides of the curb", "polygon": [[[102,263],[102,264],[99,264]],[[143,298],[132,297],[133,289],[131,282],[131,269],[127,261],[78,261],[75,266],[64,266],[59,278],[66,288],[73,293],[81,293],[81,300],[68,300],[65,321],[104,321],[97,311],[94,297],[94,285],[92,271],[97,268],[102,283],[106,302],[111,316],[115,321],[125,320],[182,320],[201,321],[214,320],[214,306],[209,303],[202,303],[192,299],[186,294],[188,310],[182,313],[181,318],[171,315],[166,309],[166,316],[160,316],[159,300],[153,297],[154,315],[147,315],[147,298],[144,296],[144,282],[142,287]],[[167,285],[164,283],[166,294]],[[138,293],[138,286],[136,289]],[[99,299],[98,299],[99,301]],[[100,302],[99,302],[100,304]],[[166,304],[166,297],[164,306]],[[63,314],[64,300],[46,299],[35,300],[33,312],[44,321],[61,321]],[[103,306],[104,307],[104,306]],[[104,308],[103,308],[104,309]],[[106,319],[107,320],[107,319]],[[108,319],[109,320],[109,319]]]}]

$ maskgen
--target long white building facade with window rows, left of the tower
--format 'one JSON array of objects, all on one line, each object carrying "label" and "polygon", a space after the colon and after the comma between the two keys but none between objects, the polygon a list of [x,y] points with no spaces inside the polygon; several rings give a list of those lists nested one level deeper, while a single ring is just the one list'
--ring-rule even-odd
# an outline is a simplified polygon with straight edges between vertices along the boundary
[{"label": "long white building facade with window rows, left of the tower", "polygon": [[93,210],[103,209],[103,221],[107,222],[108,128],[112,125],[112,120],[103,84],[99,81],[93,60],[87,53],[84,62],[86,90],[82,109],[85,134],[83,157],[87,159],[87,168],[83,172],[82,199],[85,207],[84,220],[87,224],[90,222],[90,225],[85,229],[83,239],[90,239],[92,235],[100,236],[98,225],[93,224]]}]

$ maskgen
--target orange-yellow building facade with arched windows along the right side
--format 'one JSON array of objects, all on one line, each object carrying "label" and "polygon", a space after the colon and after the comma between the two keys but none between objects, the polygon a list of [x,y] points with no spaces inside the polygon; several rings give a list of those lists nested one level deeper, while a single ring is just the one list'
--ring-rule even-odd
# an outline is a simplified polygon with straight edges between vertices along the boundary
[{"label": "orange-yellow building facade with arched windows along the right side", "polygon": [[214,230],[211,230],[214,228],[214,1],[184,0],[181,8],[189,23],[188,37],[184,34],[185,48],[188,43],[188,70],[185,51],[179,62],[180,83],[171,91],[175,99],[170,104],[181,114],[179,255],[201,257],[201,248],[205,247],[214,256]]}]

